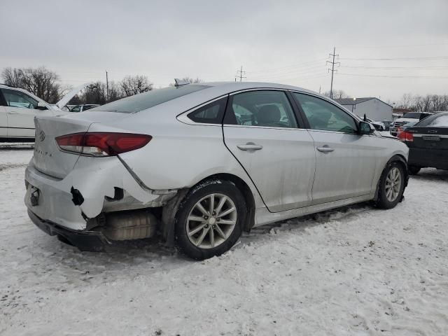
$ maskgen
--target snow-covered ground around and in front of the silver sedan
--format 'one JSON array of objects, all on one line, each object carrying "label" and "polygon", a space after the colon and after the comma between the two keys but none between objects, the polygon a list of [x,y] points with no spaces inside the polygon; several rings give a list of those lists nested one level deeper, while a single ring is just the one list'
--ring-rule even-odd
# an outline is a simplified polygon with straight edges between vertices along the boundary
[{"label": "snow-covered ground around and in front of the silver sedan", "polygon": [[448,172],[389,211],[253,230],[220,258],[82,253],[27,218],[31,150],[0,150],[0,335],[448,335]]}]

